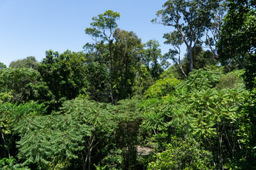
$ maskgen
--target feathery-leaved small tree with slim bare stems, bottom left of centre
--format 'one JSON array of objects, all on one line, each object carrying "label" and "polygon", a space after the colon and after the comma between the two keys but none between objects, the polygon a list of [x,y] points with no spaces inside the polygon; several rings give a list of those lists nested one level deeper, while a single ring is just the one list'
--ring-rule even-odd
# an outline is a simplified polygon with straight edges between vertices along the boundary
[{"label": "feathery-leaved small tree with slim bare stems, bottom left of centre", "polygon": [[[74,125],[88,126],[90,135],[85,134],[87,131],[80,130],[83,134],[82,151],[80,152],[80,162],[83,169],[90,169],[92,156],[97,159],[97,154],[92,155],[93,150],[101,142],[105,142],[112,136],[117,123],[114,120],[115,115],[110,112],[111,106],[107,103],[96,103],[84,98],[75,98],[72,101],[63,103],[61,111],[70,115]],[[83,158],[83,160],[82,160]],[[81,166],[79,166],[81,168]]]}]

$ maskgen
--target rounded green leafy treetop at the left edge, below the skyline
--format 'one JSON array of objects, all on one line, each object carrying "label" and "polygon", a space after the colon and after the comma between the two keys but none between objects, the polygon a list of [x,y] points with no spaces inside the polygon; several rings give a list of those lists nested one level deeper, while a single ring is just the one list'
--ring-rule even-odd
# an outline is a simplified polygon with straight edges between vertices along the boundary
[{"label": "rounded green leafy treetop at the left edge, below the skyline", "polygon": [[41,75],[35,69],[17,68],[0,70],[0,91],[4,101],[24,103],[30,100],[50,100],[48,88],[41,81]]}]

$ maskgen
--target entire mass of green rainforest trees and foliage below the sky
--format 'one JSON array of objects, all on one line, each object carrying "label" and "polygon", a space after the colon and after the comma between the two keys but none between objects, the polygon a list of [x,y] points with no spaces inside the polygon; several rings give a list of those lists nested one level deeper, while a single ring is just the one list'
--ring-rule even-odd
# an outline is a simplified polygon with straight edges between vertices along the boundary
[{"label": "entire mass of green rainforest trees and foliage below the sky", "polygon": [[256,169],[256,1],[152,13],[166,54],[107,10],[81,52],[0,63],[0,169]]}]

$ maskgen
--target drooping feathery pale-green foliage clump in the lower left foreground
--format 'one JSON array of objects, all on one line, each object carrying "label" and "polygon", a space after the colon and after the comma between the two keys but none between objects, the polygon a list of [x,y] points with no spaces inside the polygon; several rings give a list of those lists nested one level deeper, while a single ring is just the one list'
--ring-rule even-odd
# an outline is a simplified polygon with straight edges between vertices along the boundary
[{"label": "drooping feathery pale-green foliage clump in the lower left foreground", "polygon": [[28,117],[16,126],[23,136],[17,142],[18,157],[26,159],[23,164],[38,164],[40,168],[63,164],[65,169],[71,159],[78,159],[75,152],[83,148],[82,137],[90,135],[88,128],[75,123],[70,115]]}]

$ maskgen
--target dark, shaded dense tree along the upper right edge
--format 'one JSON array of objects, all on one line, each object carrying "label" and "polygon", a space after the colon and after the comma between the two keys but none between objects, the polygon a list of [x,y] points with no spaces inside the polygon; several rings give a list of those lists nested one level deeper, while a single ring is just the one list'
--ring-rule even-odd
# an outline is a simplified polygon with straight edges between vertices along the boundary
[{"label": "dark, shaded dense tree along the upper right edge", "polygon": [[218,53],[226,67],[245,68],[247,87],[252,89],[256,76],[256,2],[230,0],[221,28]]}]

